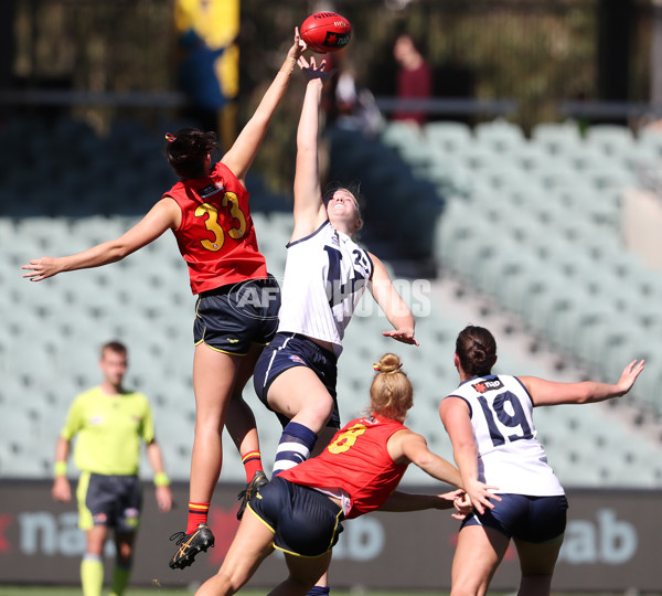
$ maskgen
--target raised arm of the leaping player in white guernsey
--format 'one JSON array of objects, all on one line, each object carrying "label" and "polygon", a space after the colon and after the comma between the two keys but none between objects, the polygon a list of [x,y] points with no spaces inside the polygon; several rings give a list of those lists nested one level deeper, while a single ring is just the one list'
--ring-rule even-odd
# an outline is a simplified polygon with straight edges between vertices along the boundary
[{"label": "raised arm of the leaping player in white guernsey", "polygon": [[322,87],[333,72],[324,68],[327,62],[319,66],[314,57],[307,61],[299,58],[299,66],[308,78],[303,106],[297,129],[297,164],[295,171],[295,230],[292,241],[312,234],[327,219],[322,204],[320,187],[320,168],[318,142],[320,132],[320,103]]}]

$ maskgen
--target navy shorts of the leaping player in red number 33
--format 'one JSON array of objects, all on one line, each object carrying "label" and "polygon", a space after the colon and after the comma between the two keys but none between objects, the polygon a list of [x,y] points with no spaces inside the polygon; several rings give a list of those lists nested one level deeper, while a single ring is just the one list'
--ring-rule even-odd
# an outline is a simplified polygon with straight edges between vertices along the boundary
[{"label": "navy shorts of the leaping player in red number 33", "polygon": [[274,276],[203,291],[195,305],[193,338],[213,350],[246,355],[268,344],[278,328],[280,286]]}]

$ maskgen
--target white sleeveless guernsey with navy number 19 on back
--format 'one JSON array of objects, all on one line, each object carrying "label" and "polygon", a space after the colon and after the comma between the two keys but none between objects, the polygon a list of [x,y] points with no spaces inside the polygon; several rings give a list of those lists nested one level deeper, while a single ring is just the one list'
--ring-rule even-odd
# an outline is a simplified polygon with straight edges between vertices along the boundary
[{"label": "white sleeveless guernsey with navy number 19 on back", "polygon": [[510,375],[474,376],[446,398],[469,404],[478,447],[478,477],[495,492],[534,497],[564,494],[533,425],[533,402]]}]

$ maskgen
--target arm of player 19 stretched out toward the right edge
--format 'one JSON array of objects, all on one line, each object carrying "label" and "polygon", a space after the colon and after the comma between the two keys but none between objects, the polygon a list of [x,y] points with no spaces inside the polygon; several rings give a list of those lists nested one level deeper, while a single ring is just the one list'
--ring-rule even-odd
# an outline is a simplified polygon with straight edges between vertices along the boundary
[{"label": "arm of player 19 stretched out toward the right edge", "polygon": [[620,379],[615,385],[594,381],[555,383],[554,381],[545,381],[537,376],[520,376],[519,379],[531,394],[533,404],[536,406],[590,404],[626,395],[632,389],[641,371],[643,371],[643,360],[633,360],[630,362],[623,369]]}]

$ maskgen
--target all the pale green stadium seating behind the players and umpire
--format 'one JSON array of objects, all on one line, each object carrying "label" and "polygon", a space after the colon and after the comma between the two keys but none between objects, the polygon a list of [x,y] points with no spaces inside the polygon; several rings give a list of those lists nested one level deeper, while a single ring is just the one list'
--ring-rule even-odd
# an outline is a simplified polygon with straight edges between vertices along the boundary
[{"label": "all the pale green stadium seating behind the players and umpire", "polygon": [[[154,147],[159,143],[136,140],[137,129],[128,124],[117,125],[105,139],[71,123],[55,127],[46,140],[39,138],[40,130],[20,119],[0,130],[3,138],[32,139],[29,147],[13,143],[15,156],[4,156],[8,163],[15,159],[17,166],[8,168],[10,175],[0,183],[7,196],[0,217],[0,305],[11,313],[0,320],[0,405],[11,412],[0,422],[7,437],[0,443],[0,478],[50,475],[68,404],[98,382],[99,344],[117,338],[130,348],[127,381],[147,393],[154,407],[169,472],[185,480],[195,415],[194,298],[171,235],[99,270],[41,284],[21,279],[20,272],[31,257],[79,251],[121,234],[159,198],[169,175],[150,160],[146,168],[153,175],[139,194],[130,174],[121,174],[107,180],[107,194],[97,188],[94,196],[75,202],[70,191],[81,191],[81,178],[62,174],[56,178],[62,189],[44,203],[45,185],[23,193],[31,180],[20,161],[23,153],[51,157],[76,139],[82,147],[77,159],[94,175],[103,175],[129,170],[122,161],[128,156],[138,159],[156,152],[162,160]],[[631,183],[636,173],[634,161],[628,162],[620,148],[629,147],[642,163],[662,155],[662,142],[652,136],[616,140],[618,134],[597,131],[583,139],[573,125],[540,125],[528,140],[503,121],[476,130],[459,123],[430,123],[424,129],[387,125],[378,140],[362,140],[348,131],[330,136],[332,145],[342,148],[332,150],[332,178],[362,180],[367,199],[378,198],[366,210],[369,227],[398,230],[394,244],[404,240],[418,254],[428,249],[445,267],[521,316],[533,332],[565,353],[590,361],[610,380],[645,342],[642,353],[650,365],[633,400],[662,412],[656,390],[662,382],[662,350],[647,341],[647,332],[653,336],[651,329],[662,329],[656,315],[662,281],[623,252],[618,240],[621,185]],[[601,155],[609,158],[611,171],[598,168]],[[54,174],[52,164],[40,167]],[[66,170],[67,162],[62,167]],[[84,184],[90,180],[84,178]],[[250,188],[257,189],[255,204],[265,210],[254,214],[260,249],[271,273],[280,277],[291,211],[258,180],[252,180]],[[393,189],[396,192],[389,192]],[[409,207],[405,219],[403,204]],[[413,284],[404,280],[409,299],[415,296]],[[364,298],[348,328],[339,363],[341,415],[348,419],[361,413],[369,398],[372,363],[397,348],[416,391],[409,424],[426,435],[435,451],[451,459],[438,403],[458,382],[452,348],[467,321],[447,318],[442,305],[435,304],[427,305],[420,317],[421,348],[394,345],[382,336],[388,322],[372,299]],[[516,358],[500,354],[499,371],[523,369]],[[257,416],[263,453],[274,453],[279,424],[250,385],[245,398]],[[638,437],[636,429],[600,407],[540,408],[535,416],[549,460],[567,486],[662,486],[660,446]],[[243,481],[236,450],[226,435],[224,441],[222,480]],[[608,461],[592,457],[596,451],[608,454]],[[270,464],[266,455],[265,465]],[[420,483],[427,478],[412,470],[405,481]]]}]

